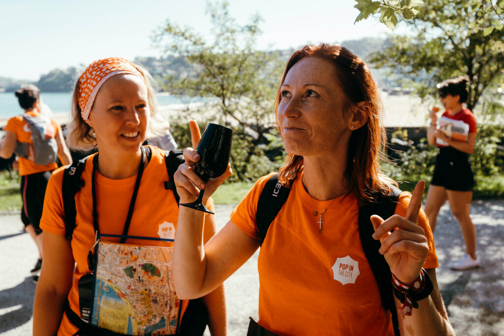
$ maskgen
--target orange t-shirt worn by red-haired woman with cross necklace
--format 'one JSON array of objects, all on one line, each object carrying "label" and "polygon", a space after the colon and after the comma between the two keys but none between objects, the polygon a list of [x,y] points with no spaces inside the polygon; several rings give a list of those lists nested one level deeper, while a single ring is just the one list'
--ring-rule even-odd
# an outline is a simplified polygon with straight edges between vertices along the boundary
[{"label": "orange t-shirt worn by red-haired woman with cross necklace", "polygon": [[[230,216],[237,227],[257,239],[257,204],[271,175],[259,179]],[[279,335],[393,335],[390,312],[382,306],[360,242],[357,199],[349,195],[316,200],[304,189],[301,176],[261,246],[259,323]],[[401,193],[396,214],[406,215],[410,197],[409,192]],[[326,208],[319,233],[319,216],[313,212]],[[429,244],[423,267],[437,267],[423,211],[418,224]]]}]

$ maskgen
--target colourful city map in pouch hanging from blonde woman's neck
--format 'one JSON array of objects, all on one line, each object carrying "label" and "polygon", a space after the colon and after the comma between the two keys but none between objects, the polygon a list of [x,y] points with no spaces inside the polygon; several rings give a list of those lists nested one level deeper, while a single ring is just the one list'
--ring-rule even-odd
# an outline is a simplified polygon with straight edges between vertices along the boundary
[{"label": "colourful city map in pouch hanging from blonde woman's neck", "polygon": [[178,330],[173,247],[99,241],[90,324],[129,335]]}]

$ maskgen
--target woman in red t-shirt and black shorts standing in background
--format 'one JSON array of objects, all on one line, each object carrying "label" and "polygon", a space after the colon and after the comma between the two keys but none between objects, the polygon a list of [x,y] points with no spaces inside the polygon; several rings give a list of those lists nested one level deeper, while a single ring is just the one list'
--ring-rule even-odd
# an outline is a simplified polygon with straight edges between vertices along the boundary
[{"label": "woman in red t-shirt and black shorts standing in background", "polygon": [[[467,101],[467,78],[446,80],[437,85],[439,100],[445,108],[442,117],[460,120],[469,126],[467,140],[457,140],[437,128],[436,112],[430,112],[430,127],[427,132],[429,145],[437,145],[436,165],[427,193],[425,214],[434,232],[439,209],[448,199],[452,213],[462,228],[466,254],[451,266],[454,270],[467,270],[479,266],[476,257],[476,229],[469,216],[474,178],[469,155],[474,151],[476,120],[473,113],[462,106]],[[453,134],[453,133],[452,133]]]}]

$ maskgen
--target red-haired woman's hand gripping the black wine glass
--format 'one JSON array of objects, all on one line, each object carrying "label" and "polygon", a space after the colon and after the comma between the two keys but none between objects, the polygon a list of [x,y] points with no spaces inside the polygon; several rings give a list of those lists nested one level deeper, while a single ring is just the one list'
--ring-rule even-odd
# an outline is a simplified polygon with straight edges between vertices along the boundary
[{"label": "red-haired woman's hand gripping the black wine glass", "polygon": [[191,203],[196,200],[200,189],[205,189],[205,195],[203,197],[203,204],[205,204],[208,197],[214,193],[217,187],[231,176],[231,165],[227,165],[226,171],[219,178],[208,182],[203,181],[193,169],[194,163],[200,160],[200,155],[194,149],[198,147],[201,140],[200,128],[196,120],[189,121],[189,127],[191,129],[191,142],[193,148],[185,148],[183,150],[185,163],[178,166],[173,178],[181,204]]}]

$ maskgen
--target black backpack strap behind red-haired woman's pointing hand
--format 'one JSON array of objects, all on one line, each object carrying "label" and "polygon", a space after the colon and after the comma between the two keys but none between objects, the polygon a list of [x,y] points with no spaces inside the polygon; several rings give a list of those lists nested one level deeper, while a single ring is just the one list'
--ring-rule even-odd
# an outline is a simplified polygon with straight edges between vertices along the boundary
[{"label": "black backpack strap behind red-haired woman's pointing hand", "polygon": [[383,254],[380,254],[380,240],[375,240],[372,237],[374,228],[369,219],[371,215],[378,215],[383,219],[388,219],[395,214],[397,200],[401,194],[401,190],[393,185],[389,185],[391,191],[388,195],[375,193],[372,196],[375,201],[366,204],[359,208],[359,235],[364,254],[366,255],[374,279],[380,290],[382,305],[385,309],[390,310],[392,314],[392,322],[394,324],[394,333],[399,334],[399,325],[397,321],[397,311],[392,293],[392,274],[390,267]]}]

